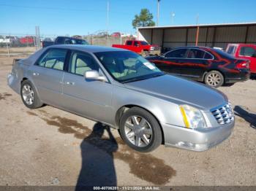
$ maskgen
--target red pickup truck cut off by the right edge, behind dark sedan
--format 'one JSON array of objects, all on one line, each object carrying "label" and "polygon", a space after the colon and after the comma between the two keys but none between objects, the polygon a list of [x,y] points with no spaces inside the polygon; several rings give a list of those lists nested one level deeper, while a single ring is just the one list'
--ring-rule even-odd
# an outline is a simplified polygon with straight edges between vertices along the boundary
[{"label": "red pickup truck cut off by the right edge, behind dark sedan", "polygon": [[251,77],[256,77],[256,45],[255,44],[227,44],[226,52],[236,58],[250,61]]}]

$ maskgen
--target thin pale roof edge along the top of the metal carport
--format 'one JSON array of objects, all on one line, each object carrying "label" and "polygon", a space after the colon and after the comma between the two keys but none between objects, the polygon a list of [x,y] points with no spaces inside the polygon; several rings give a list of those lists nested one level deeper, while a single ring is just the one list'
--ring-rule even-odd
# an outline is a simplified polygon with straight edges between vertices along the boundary
[{"label": "thin pale roof edge along the top of the metal carport", "polygon": [[145,26],[138,27],[138,29],[147,29],[147,28],[192,28],[192,27],[207,27],[207,26],[249,26],[256,25],[256,22],[251,23],[215,23],[215,24],[199,24],[199,25],[184,25],[184,26]]}]

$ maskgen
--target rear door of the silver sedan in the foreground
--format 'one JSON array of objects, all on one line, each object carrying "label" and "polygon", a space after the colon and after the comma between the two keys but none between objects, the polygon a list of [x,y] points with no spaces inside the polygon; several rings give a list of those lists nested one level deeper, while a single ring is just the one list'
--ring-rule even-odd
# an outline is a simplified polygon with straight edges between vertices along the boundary
[{"label": "rear door of the silver sedan in the foreground", "polygon": [[62,79],[66,56],[66,49],[50,48],[29,68],[39,98],[45,104],[61,106]]}]

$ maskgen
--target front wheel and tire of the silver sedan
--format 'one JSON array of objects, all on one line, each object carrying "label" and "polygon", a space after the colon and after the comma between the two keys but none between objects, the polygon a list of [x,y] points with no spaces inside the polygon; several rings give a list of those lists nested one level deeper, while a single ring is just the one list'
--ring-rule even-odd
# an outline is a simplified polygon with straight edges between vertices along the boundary
[{"label": "front wheel and tire of the silver sedan", "polygon": [[144,109],[132,107],[119,123],[121,138],[138,152],[151,152],[162,144],[162,130],[156,118]]}]

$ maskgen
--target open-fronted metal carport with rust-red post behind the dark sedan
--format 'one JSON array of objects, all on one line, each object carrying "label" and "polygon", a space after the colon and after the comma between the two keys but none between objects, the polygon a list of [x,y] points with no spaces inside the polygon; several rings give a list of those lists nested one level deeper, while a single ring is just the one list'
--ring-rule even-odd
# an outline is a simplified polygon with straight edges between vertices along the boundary
[{"label": "open-fronted metal carport with rust-red post behind the dark sedan", "polygon": [[256,23],[140,27],[138,39],[162,48],[189,45],[225,48],[228,43],[256,44]]}]

